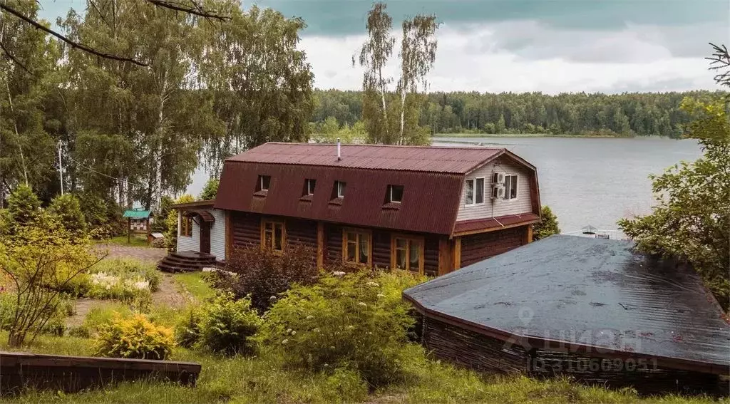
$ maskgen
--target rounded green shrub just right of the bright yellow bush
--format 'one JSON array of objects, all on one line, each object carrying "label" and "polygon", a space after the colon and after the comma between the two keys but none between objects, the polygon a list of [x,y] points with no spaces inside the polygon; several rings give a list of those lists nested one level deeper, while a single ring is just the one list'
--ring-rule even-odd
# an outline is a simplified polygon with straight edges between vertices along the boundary
[{"label": "rounded green shrub just right of the bright yellow bush", "polygon": [[251,300],[234,300],[221,293],[199,310],[188,311],[175,329],[175,337],[183,346],[196,346],[223,354],[252,355],[255,342],[251,337],[261,327]]}]

